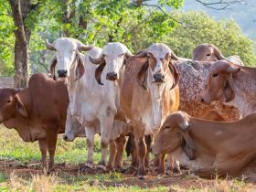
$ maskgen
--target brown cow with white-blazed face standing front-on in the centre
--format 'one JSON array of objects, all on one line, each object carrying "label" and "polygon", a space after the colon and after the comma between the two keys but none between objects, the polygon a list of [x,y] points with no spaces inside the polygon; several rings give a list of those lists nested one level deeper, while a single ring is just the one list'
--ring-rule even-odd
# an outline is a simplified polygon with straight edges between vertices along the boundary
[{"label": "brown cow with white-blazed face standing front-on in the centre", "polygon": [[121,108],[133,124],[140,179],[146,175],[144,135],[157,133],[165,116],[178,108],[179,77],[171,59],[177,58],[170,48],[165,44],[153,44],[128,59],[124,70]]}]

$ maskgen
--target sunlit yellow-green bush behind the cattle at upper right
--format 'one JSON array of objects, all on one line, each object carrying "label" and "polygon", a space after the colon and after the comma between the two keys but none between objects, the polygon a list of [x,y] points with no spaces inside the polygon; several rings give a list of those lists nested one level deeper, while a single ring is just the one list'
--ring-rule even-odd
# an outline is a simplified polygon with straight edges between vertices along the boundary
[{"label": "sunlit yellow-green bush behind the cattle at upper right", "polygon": [[246,66],[256,64],[254,42],[242,34],[234,20],[216,21],[201,12],[176,13],[175,16],[189,27],[179,25],[162,41],[177,56],[191,59],[193,48],[202,43],[211,43],[226,57],[239,55]]}]

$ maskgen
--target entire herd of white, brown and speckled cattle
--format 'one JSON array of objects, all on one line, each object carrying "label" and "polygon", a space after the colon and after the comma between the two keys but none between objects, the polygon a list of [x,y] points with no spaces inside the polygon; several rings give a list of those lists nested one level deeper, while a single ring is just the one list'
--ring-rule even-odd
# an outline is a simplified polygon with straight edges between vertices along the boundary
[{"label": "entire herd of white, brown and speckled cattle", "polygon": [[49,171],[58,133],[68,142],[86,136],[88,168],[100,133],[104,171],[123,167],[129,135],[126,171],[140,179],[150,152],[161,175],[165,155],[171,171],[179,161],[204,177],[256,173],[256,69],[243,67],[239,56],[225,58],[210,44],[195,48],[192,59],[162,43],[134,56],[122,43],[101,49],[60,37],[46,46],[56,52],[51,75],[32,75],[26,89],[0,89],[0,123],[25,142],[38,141]]}]

